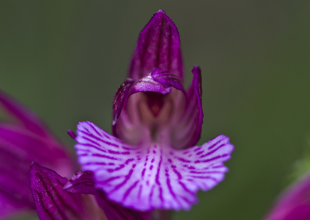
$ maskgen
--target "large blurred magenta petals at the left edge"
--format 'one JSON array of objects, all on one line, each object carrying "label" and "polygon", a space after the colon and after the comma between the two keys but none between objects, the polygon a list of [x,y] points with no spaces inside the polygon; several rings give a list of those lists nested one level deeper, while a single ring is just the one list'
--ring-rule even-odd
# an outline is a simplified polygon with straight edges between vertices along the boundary
[{"label": "large blurred magenta petals at the left edge", "polygon": [[78,165],[42,120],[0,91],[0,107],[13,121],[0,122],[0,219],[35,210],[29,166],[36,161],[69,177]]}]

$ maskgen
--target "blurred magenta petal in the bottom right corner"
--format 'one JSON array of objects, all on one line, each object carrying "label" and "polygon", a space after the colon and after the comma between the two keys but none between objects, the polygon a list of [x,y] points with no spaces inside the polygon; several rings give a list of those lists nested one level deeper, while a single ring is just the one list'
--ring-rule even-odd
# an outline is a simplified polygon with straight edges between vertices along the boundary
[{"label": "blurred magenta petal in the bottom right corner", "polygon": [[310,173],[288,187],[265,220],[310,219]]}]

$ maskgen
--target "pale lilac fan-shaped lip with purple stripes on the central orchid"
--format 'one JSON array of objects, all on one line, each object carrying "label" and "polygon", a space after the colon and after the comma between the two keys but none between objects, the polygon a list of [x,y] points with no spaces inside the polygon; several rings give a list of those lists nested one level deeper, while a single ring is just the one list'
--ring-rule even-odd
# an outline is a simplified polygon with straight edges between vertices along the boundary
[{"label": "pale lilac fan-shaped lip with purple stripes on the central orchid", "polygon": [[132,146],[91,122],[78,124],[78,161],[94,172],[95,186],[108,199],[125,207],[186,209],[197,202],[196,192],[224,179],[233,146],[219,135],[202,146],[175,150],[170,146]]}]

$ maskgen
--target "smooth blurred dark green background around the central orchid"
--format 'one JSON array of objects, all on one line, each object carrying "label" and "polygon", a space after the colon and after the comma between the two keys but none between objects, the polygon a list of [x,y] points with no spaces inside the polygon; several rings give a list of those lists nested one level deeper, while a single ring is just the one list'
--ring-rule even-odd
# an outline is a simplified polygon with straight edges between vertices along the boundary
[{"label": "smooth blurred dark green background around the central orchid", "polygon": [[224,182],[174,219],[261,219],[306,169],[310,1],[1,1],[0,88],[71,148],[79,121],[110,132],[113,95],[159,9],[179,29],[186,85],[202,70],[199,144],[224,133],[235,145]]}]

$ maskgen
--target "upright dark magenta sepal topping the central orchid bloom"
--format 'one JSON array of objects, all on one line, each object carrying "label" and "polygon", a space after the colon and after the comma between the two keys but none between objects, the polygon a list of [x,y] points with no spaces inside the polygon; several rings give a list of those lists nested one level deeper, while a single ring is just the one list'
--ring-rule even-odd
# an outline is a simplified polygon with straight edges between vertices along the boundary
[{"label": "upright dark magenta sepal topping the central orchid bloom", "polygon": [[159,10],[141,31],[131,57],[129,77],[141,79],[155,67],[177,76],[183,82],[183,62],[179,32],[174,22]]}]

